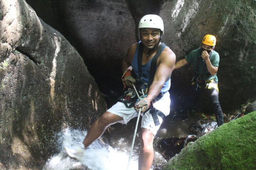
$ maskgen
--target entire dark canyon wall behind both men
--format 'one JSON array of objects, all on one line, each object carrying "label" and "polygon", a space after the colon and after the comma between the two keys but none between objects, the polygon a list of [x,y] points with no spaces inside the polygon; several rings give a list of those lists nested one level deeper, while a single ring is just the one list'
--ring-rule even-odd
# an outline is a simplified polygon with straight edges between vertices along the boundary
[{"label": "entire dark canyon wall behind both men", "polygon": [[[252,0],[42,0],[28,3],[46,23],[59,30],[84,58],[100,90],[120,93],[121,60],[139,40],[137,24],[146,14],[160,15],[165,24],[163,41],[177,60],[200,46],[205,34],[217,38],[222,108],[238,108],[255,98],[256,2]],[[193,75],[191,66],[172,75],[172,102],[184,103]]]}]

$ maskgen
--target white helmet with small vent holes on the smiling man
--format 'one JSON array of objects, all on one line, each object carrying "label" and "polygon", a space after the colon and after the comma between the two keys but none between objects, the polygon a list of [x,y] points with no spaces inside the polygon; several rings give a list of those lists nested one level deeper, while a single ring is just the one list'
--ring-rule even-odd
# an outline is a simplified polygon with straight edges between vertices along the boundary
[{"label": "white helmet with small vent holes on the smiling man", "polygon": [[140,28],[157,28],[162,31],[162,35],[164,34],[164,22],[158,15],[145,15],[142,17],[139,22]]}]

